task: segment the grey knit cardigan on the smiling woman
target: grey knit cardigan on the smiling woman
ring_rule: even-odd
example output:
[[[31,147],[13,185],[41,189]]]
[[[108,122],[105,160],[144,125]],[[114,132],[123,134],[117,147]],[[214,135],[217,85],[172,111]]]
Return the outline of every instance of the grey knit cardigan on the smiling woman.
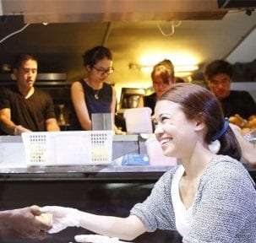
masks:
[[[176,230],[172,207],[172,177],[177,167],[161,176],[143,202],[131,214],[155,229]],[[204,171],[193,203],[193,222],[184,243],[256,242],[256,191],[243,165],[231,157],[218,155]]]

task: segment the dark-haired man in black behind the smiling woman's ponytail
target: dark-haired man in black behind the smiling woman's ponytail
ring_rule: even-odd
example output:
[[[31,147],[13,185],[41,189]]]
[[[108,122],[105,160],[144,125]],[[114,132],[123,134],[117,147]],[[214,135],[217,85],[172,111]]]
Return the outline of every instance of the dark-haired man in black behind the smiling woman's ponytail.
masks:
[[[204,78],[210,90],[221,101],[226,117],[236,114],[248,119],[256,115],[256,104],[247,91],[230,90],[232,66],[229,62],[216,60],[211,62],[204,71]]]

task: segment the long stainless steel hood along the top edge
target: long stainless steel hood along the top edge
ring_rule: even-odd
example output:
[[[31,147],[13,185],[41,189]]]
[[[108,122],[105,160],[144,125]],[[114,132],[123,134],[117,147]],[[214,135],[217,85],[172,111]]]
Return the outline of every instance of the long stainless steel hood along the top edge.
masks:
[[[222,19],[217,0],[2,0],[3,15],[25,23]]]

